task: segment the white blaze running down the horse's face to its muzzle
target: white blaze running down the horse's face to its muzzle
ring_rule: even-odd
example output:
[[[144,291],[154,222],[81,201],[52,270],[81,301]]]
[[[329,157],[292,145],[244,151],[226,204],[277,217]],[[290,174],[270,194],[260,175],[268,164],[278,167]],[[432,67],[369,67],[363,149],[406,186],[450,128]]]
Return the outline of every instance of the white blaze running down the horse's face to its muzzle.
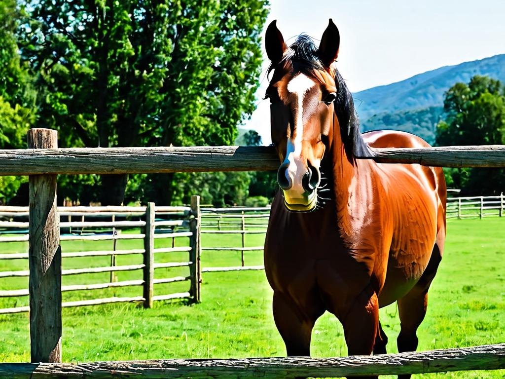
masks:
[[[305,199],[305,189],[301,185],[301,179],[307,172],[307,166],[300,159],[301,141],[304,136],[304,97],[305,94],[315,85],[315,82],[304,74],[296,75],[287,84],[287,90],[296,97],[297,107],[294,115],[294,137],[287,140],[286,158],[284,163],[289,162],[286,170],[286,177],[292,183],[292,187],[284,191],[284,198],[289,204],[309,203],[313,199]]]

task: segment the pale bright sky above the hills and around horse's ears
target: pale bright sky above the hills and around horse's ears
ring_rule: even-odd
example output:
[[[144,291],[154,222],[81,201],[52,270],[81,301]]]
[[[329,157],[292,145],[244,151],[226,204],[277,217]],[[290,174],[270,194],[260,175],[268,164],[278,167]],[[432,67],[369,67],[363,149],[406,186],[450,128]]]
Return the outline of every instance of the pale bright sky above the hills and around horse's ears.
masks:
[[[505,53],[505,0],[270,0],[286,44],[305,33],[318,44],[328,19],[340,31],[337,67],[352,92],[442,66]],[[264,48],[263,48],[264,50]],[[264,53],[258,107],[243,127],[270,144]]]

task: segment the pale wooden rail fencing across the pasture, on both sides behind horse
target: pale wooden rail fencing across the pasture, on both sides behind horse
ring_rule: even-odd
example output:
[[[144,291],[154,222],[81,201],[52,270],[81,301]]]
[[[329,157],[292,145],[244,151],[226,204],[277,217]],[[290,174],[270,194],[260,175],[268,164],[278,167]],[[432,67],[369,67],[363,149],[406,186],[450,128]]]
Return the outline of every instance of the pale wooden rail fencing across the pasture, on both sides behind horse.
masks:
[[[125,206],[108,206],[108,207],[58,207],[58,214],[60,217],[66,216],[69,221],[60,222],[61,228],[68,228],[73,231],[73,234],[62,234],[62,241],[118,241],[118,240],[145,240],[145,233],[118,233],[120,228],[126,227],[140,227],[145,230],[146,227],[146,210],[147,207],[125,207]],[[179,217],[179,219],[155,221],[155,227],[170,227],[177,228],[168,234],[155,233],[153,238],[171,238],[172,247],[154,249],[155,253],[163,252],[181,252],[191,251],[191,247],[175,247],[175,238],[188,237],[193,238],[192,232],[188,230],[190,225],[189,218],[191,217],[190,207],[160,207],[155,206],[155,212],[158,216],[172,216]],[[28,216],[28,207],[11,207],[0,206],[0,217],[13,217],[19,218]],[[502,217],[505,214],[505,196],[501,193],[499,196],[476,196],[476,197],[455,197],[447,199],[447,218],[483,218],[483,217]],[[110,216],[113,221],[89,221],[85,217],[104,217]],[[201,208],[199,213],[199,232],[203,234],[240,234],[241,244],[239,246],[216,246],[216,247],[199,247],[199,250],[204,251],[238,251],[240,252],[241,265],[232,267],[199,267],[199,274],[201,272],[216,272],[216,271],[233,271],[233,270],[259,270],[263,269],[263,265],[246,265],[244,262],[244,252],[246,251],[263,251],[263,246],[246,246],[245,239],[247,234],[264,234],[268,226],[270,216],[270,207],[227,207],[227,208]],[[72,220],[72,217],[74,220]],[[75,221],[75,217],[80,218],[80,221]],[[144,220],[114,220],[115,217],[143,217]],[[19,228],[27,229],[27,221],[0,221],[0,228]],[[85,228],[112,228],[115,232],[110,234],[82,234]],[[76,230],[80,229],[80,233],[76,234]],[[181,230],[183,229],[183,230]],[[87,230],[89,231],[89,230]],[[0,243],[2,242],[25,242],[28,241],[28,234],[14,235],[14,236],[0,236]],[[145,245],[145,243],[144,243]],[[63,270],[62,275],[73,275],[81,273],[92,272],[111,272],[111,283],[97,283],[96,285],[82,285],[82,286],[64,286],[62,291],[76,291],[94,288],[109,288],[109,287],[123,287],[123,286],[148,286],[148,281],[143,279],[136,281],[112,282],[114,272],[145,269],[143,265],[125,265],[116,266],[115,257],[120,255],[130,254],[145,254],[145,249],[130,249],[130,250],[106,250],[106,251],[82,251],[82,252],[63,252],[62,257],[86,257],[86,256],[111,256],[111,266],[109,267],[94,267],[82,269],[69,269]],[[27,259],[28,253],[11,253],[0,254],[0,260],[3,259]],[[153,258],[154,259],[154,258]],[[153,262],[154,263],[154,262]],[[192,261],[188,262],[173,262],[173,263],[154,263],[155,268],[162,267],[177,267],[190,266]],[[0,278],[11,276],[28,276],[28,270],[20,271],[4,271],[0,272]],[[195,280],[200,280],[195,279]],[[166,279],[154,279],[154,283],[190,280],[190,277],[177,277]],[[10,295],[11,294],[11,295]],[[15,291],[0,291],[0,297],[28,295],[27,290]],[[173,294],[176,297],[192,297],[189,293]],[[169,295],[155,296],[154,300],[161,300],[162,298],[169,298]],[[100,304],[103,302],[121,302],[121,301],[146,301],[145,298],[115,298],[115,299],[96,299],[93,304]],[[82,302],[72,302],[71,305],[64,303],[63,306],[87,305],[91,304],[91,300]],[[12,309],[12,312],[17,311],[18,308]],[[22,311],[26,311],[27,307],[19,307]],[[0,310],[0,313],[6,313],[6,310]]]

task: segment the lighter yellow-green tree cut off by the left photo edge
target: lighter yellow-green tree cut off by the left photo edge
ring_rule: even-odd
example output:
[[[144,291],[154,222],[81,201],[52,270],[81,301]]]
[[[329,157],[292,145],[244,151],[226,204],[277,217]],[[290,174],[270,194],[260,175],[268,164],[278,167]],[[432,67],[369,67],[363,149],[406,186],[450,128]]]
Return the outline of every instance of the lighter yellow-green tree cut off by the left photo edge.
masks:
[[[35,93],[16,39],[21,13],[15,0],[0,2],[0,149],[25,148],[26,131],[34,122]],[[0,204],[9,202],[26,181],[0,176]],[[23,205],[28,204],[24,200]]]

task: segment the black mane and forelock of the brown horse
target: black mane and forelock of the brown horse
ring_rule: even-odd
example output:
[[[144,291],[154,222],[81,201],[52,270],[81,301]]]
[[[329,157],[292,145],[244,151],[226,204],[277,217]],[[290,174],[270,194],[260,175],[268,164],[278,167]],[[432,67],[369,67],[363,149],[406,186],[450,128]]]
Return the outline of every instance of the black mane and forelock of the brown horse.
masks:
[[[294,73],[302,72],[307,75],[311,75],[314,70],[325,70],[323,62],[318,56],[317,46],[313,39],[305,34],[299,35],[286,49],[277,67],[292,67]],[[275,67],[271,65],[268,72],[273,69]],[[360,133],[360,122],[352,94],[338,70],[335,70],[335,84],[337,98],[334,101],[334,108],[347,156],[349,159],[351,157],[371,157],[370,148]]]

